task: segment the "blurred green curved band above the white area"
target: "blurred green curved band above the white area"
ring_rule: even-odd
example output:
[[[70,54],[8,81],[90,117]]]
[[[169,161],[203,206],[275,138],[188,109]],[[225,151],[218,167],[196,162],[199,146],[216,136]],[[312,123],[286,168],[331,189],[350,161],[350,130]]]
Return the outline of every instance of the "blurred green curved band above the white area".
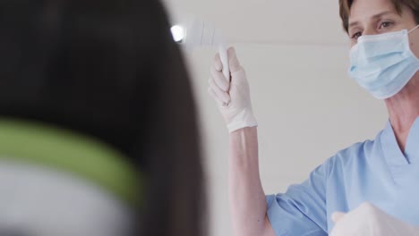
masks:
[[[96,183],[140,206],[141,176],[112,147],[72,131],[37,122],[0,119],[0,160],[40,164]]]

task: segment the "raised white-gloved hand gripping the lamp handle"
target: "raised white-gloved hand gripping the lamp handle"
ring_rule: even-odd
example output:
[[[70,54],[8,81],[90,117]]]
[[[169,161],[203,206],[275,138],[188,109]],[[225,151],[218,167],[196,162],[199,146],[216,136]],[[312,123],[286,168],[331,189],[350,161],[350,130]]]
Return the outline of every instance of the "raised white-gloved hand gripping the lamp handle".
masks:
[[[235,55],[235,48],[228,48],[227,56],[230,82],[224,77],[223,64],[219,55],[216,55],[210,69],[208,92],[217,101],[218,109],[227,122],[228,131],[233,132],[244,127],[257,126],[257,122],[253,116],[249,83]]]

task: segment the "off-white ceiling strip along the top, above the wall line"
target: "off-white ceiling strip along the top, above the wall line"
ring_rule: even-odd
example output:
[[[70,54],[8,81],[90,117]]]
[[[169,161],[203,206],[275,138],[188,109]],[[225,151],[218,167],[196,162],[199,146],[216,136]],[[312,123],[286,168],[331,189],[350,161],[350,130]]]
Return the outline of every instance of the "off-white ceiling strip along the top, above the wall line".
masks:
[[[347,45],[338,0],[164,0],[173,23],[212,21],[229,43]]]

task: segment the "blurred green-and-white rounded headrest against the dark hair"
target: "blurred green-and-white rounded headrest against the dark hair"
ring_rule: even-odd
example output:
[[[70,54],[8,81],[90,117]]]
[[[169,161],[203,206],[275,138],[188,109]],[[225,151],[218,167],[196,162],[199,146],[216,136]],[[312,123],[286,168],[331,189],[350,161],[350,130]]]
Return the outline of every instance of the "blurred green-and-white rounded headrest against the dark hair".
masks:
[[[80,133],[0,119],[0,235],[131,235],[139,173],[125,159]]]

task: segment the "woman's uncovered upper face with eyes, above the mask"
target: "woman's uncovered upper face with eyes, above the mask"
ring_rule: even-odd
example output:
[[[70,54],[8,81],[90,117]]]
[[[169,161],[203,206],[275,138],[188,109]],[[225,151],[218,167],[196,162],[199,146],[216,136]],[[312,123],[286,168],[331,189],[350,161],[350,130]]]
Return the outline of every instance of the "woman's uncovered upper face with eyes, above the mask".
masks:
[[[410,8],[402,4],[399,14],[390,0],[354,0],[349,15],[348,35],[351,46],[363,35],[375,35],[399,30],[411,30],[416,26]],[[419,29],[409,34],[410,48],[419,57]]]

